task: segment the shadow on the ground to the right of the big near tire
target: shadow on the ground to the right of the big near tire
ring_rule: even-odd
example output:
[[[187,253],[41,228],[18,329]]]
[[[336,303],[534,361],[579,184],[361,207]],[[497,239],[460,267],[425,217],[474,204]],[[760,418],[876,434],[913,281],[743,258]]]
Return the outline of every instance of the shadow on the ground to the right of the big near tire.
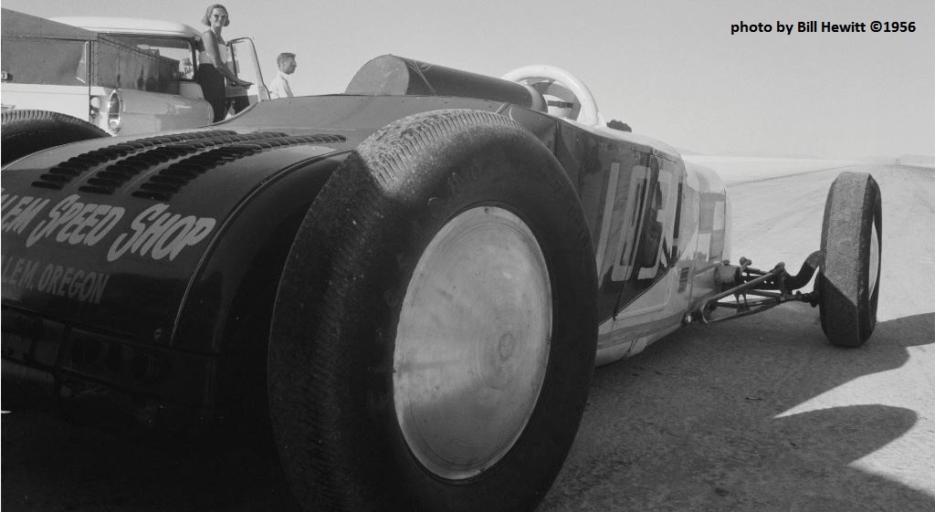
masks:
[[[832,347],[817,317],[789,305],[688,327],[598,368],[575,446],[539,511],[935,510],[935,489],[854,463],[930,418],[932,405],[856,397],[870,405],[803,406],[902,367],[909,348],[935,343],[935,313],[878,323],[854,349]],[[783,414],[794,407],[817,410]],[[914,467],[933,457],[922,446],[928,453],[902,453]],[[904,462],[913,467],[894,463]]]

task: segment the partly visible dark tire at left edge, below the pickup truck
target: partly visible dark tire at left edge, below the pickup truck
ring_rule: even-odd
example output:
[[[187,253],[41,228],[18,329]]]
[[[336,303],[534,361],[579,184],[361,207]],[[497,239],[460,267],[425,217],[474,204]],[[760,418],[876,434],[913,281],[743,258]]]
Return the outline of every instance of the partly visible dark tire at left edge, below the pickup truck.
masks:
[[[71,142],[108,136],[88,121],[48,110],[7,110],[3,113],[3,165]]]

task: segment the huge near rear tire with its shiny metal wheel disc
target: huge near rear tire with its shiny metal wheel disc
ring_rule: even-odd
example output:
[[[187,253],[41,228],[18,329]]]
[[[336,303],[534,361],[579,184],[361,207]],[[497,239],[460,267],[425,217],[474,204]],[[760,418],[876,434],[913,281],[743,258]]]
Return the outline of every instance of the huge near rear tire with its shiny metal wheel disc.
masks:
[[[311,206],[272,321],[299,502],[533,508],[582,417],[596,291],[581,203],[520,125],[449,110],[372,135]]]

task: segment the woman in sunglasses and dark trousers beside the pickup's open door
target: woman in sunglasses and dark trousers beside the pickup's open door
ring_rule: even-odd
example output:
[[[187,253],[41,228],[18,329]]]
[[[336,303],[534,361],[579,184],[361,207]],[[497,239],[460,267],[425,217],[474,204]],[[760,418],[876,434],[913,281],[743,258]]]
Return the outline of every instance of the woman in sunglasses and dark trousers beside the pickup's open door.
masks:
[[[241,80],[234,74],[234,64],[230,49],[221,36],[223,28],[230,24],[227,8],[221,4],[212,4],[205,11],[201,22],[209,26],[201,35],[205,50],[199,55],[200,64],[194,73],[194,79],[201,84],[205,99],[214,109],[214,122],[222,121],[227,115],[227,101],[224,97],[224,80],[233,85],[250,87],[252,82]]]

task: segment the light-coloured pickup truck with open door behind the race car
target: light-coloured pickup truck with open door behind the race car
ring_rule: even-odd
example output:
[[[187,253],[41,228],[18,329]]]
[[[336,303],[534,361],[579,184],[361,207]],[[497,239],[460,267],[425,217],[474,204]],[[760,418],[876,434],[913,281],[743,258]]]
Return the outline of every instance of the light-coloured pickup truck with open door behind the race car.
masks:
[[[4,164],[28,154],[19,154],[24,150],[212,120],[194,81],[202,42],[191,26],[131,18],[47,20],[6,8],[2,21]],[[252,91],[228,88],[228,98],[242,104],[268,99],[252,40],[229,45],[237,72],[254,85]],[[23,145],[22,138],[35,144]]]

